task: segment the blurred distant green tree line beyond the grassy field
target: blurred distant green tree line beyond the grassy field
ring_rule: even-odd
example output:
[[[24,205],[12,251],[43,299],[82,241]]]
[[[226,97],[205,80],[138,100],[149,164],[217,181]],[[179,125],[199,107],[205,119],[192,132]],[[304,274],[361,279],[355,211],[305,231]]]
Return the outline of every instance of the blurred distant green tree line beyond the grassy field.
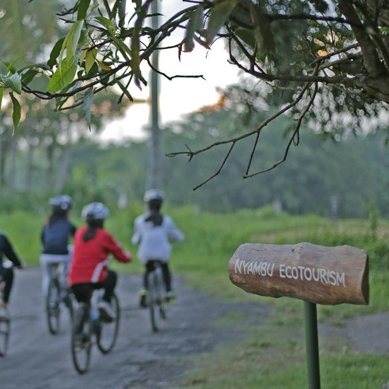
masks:
[[[217,114],[215,111],[218,111]],[[222,119],[221,119],[222,118]],[[185,120],[170,123],[163,130],[164,154],[196,148],[225,137],[241,121],[241,114],[222,106],[205,108],[188,115]],[[256,150],[258,168],[269,166],[284,152],[279,142],[287,133],[288,119],[274,121],[266,128]],[[233,130],[236,133],[236,130]],[[362,139],[363,138],[363,139]],[[278,140],[277,140],[278,139]],[[287,137],[284,138],[285,142]],[[241,179],[244,170],[242,153],[250,148],[246,139],[231,153],[222,172],[200,188],[200,182],[217,171],[225,153],[213,148],[188,163],[185,156],[162,158],[163,189],[170,206],[193,204],[202,210],[215,212],[241,208],[259,208],[273,204],[276,211],[291,214],[315,213],[339,218],[366,218],[369,204],[379,210],[379,216],[389,218],[389,157],[381,133],[322,140],[312,130],[301,130],[299,145],[292,146],[286,163],[260,176]],[[102,146],[91,137],[81,137],[72,143],[63,172],[63,152],[52,156],[54,181],[61,174],[60,191],[71,195],[78,206],[88,201],[105,201],[112,207],[131,201],[142,201],[146,187],[148,141],[125,140],[120,146]],[[15,166],[8,166],[7,174],[14,182],[14,190],[3,194],[0,208],[39,209],[46,206],[47,197],[55,191],[46,184],[47,149],[36,148],[35,163],[29,161],[29,151],[23,143],[15,150]],[[28,185],[25,180],[29,167]]]

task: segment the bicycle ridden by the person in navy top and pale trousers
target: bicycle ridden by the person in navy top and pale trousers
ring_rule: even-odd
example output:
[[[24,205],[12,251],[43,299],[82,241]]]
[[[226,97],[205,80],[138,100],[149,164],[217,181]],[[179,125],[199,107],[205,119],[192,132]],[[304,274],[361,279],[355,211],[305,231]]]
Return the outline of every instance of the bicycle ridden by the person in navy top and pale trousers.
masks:
[[[47,295],[46,295],[46,318],[49,331],[52,334],[59,332],[61,304],[64,303],[69,311],[70,319],[73,319],[73,297],[69,292],[67,285],[64,285],[61,280],[65,264],[63,262],[53,263],[51,265],[51,276],[49,280]]]

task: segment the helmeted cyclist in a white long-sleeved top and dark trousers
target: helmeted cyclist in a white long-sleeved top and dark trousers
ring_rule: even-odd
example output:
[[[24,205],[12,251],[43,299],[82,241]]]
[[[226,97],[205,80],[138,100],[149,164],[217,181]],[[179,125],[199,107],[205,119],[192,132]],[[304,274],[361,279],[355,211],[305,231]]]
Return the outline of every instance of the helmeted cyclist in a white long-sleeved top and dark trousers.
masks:
[[[171,288],[171,274],[168,267],[171,241],[184,240],[184,234],[176,227],[170,216],[161,214],[165,194],[159,189],[150,189],[144,195],[148,211],[138,216],[134,221],[133,244],[139,244],[138,258],[145,265],[143,274],[143,289],[140,290],[141,307],[146,307],[147,278],[154,268],[154,261],[160,261],[166,287],[167,301],[175,298]]]

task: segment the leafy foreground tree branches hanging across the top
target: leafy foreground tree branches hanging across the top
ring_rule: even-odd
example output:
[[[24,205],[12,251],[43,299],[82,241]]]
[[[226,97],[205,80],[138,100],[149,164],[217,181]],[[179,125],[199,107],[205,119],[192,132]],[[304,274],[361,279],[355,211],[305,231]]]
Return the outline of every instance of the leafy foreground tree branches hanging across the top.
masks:
[[[183,0],[180,9],[160,18],[154,28],[149,22],[153,1],[157,0],[69,1],[71,5],[58,13],[68,32],[56,41],[47,61],[21,67],[18,58],[4,63],[0,98],[4,90],[9,92],[14,128],[20,120],[15,95],[55,99],[57,110],[82,106],[90,123],[95,94],[116,85],[121,90],[118,102],[132,101],[129,85],[147,85],[143,63],[169,79],[201,76],[171,75],[154,68],[155,50],[190,55],[186,53],[195,45],[212,49],[217,39],[225,41],[229,62],[249,77],[237,99],[250,109],[277,103],[279,110],[245,133],[171,155],[192,159],[229,144],[222,168],[234,146],[253,136],[243,174],[251,177],[286,159],[290,145],[299,141],[304,119],[332,134],[339,128],[358,131],[366,117],[383,122],[380,114],[389,107],[387,0]],[[165,45],[174,31],[183,34]],[[44,87],[36,82],[37,76],[45,77]],[[252,171],[261,131],[284,113],[290,114],[293,126],[283,158]],[[384,126],[388,128],[386,122]]]

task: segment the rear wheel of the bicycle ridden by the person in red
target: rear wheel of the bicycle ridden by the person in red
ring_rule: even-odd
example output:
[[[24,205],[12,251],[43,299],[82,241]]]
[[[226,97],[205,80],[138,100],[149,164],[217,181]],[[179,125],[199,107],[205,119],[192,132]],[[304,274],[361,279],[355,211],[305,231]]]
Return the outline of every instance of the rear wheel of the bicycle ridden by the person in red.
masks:
[[[81,334],[76,334],[74,323],[71,332],[71,356],[74,367],[80,374],[85,373],[89,368],[92,348],[92,328],[89,313],[88,319],[83,321]]]

